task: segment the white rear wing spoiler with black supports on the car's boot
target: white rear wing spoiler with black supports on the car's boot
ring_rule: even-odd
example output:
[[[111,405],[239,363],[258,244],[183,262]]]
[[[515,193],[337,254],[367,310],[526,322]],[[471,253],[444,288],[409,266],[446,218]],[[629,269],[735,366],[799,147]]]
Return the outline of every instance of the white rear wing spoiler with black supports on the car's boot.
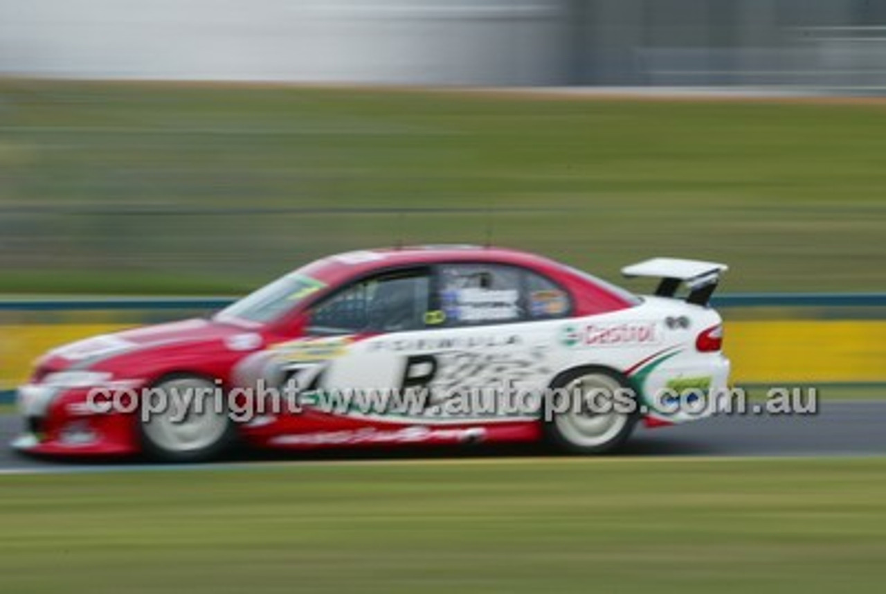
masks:
[[[659,297],[673,297],[680,288],[680,283],[685,283],[689,288],[686,301],[696,305],[707,305],[719,284],[720,275],[727,270],[729,267],[726,264],[717,262],[653,258],[626,266],[621,269],[621,273],[628,278],[661,278],[656,289]]]

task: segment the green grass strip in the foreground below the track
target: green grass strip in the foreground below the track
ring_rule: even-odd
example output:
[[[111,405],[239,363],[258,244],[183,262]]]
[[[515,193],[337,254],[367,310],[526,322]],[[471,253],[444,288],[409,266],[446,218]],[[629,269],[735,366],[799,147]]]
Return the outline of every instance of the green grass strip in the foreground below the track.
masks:
[[[886,459],[0,478],[3,590],[880,592]]]

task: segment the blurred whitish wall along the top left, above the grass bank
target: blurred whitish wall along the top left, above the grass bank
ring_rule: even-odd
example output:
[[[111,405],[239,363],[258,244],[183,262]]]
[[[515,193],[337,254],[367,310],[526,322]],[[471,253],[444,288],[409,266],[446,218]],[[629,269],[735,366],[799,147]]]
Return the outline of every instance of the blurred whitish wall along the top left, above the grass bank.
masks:
[[[563,83],[563,0],[0,0],[0,74]]]

